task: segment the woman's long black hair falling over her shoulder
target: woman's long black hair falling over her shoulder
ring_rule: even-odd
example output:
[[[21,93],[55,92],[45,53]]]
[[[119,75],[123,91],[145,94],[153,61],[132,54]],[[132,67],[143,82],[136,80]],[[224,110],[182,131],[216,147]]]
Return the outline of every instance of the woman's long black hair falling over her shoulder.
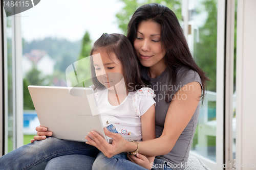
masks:
[[[141,21],[151,20],[159,23],[161,26],[161,42],[163,51],[166,51],[164,61],[167,65],[166,69],[171,72],[169,84],[175,86],[177,83],[177,72],[181,67],[187,67],[198,72],[203,86],[202,99],[205,95],[206,81],[209,80],[204,71],[198,67],[194,61],[179,21],[172,10],[160,4],[146,4],[139,7],[133,14],[127,28],[127,37],[134,44],[137,38],[137,29]],[[141,66],[143,67],[143,66]],[[186,71],[188,70],[186,69]],[[185,75],[182,72],[181,75]],[[179,78],[180,79],[180,78]],[[168,96],[172,96],[172,91],[167,91]],[[166,94],[166,96],[167,96]],[[169,103],[171,99],[165,98],[165,102]]]

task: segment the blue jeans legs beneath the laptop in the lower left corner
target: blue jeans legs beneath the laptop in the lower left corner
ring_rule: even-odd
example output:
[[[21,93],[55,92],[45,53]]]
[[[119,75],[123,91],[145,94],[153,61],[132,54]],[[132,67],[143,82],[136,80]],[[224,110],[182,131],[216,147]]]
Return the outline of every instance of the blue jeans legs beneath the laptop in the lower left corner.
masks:
[[[47,137],[0,157],[0,169],[91,169],[98,153],[84,142]]]

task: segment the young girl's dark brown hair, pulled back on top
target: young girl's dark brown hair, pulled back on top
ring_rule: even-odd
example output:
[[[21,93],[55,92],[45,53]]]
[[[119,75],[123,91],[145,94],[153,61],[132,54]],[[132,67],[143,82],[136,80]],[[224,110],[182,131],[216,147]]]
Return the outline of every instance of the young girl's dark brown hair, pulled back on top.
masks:
[[[140,66],[137,54],[129,39],[122,34],[102,34],[92,47],[90,55],[94,52],[105,52],[111,59],[111,54],[115,54],[123,67],[123,78],[127,90],[136,91],[138,88],[145,87],[141,80]],[[103,89],[103,86],[96,78],[93,60],[91,61],[91,74],[94,89]]]

